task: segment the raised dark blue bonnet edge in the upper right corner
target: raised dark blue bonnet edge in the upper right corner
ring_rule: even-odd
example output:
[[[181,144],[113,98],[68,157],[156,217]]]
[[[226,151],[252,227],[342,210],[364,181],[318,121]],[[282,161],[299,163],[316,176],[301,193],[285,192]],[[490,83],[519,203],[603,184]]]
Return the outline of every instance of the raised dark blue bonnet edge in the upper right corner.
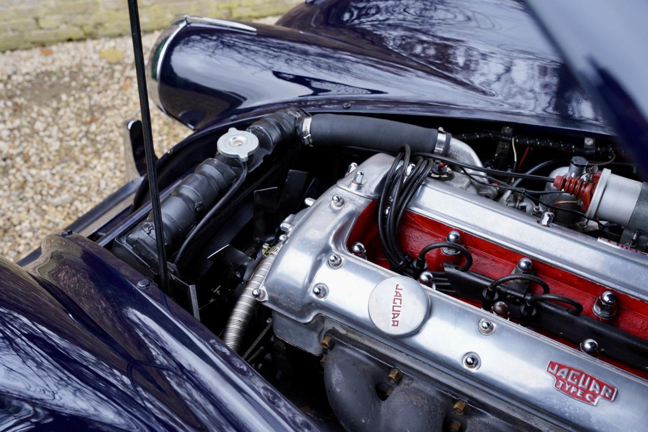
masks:
[[[648,174],[648,2],[527,0],[566,63]]]

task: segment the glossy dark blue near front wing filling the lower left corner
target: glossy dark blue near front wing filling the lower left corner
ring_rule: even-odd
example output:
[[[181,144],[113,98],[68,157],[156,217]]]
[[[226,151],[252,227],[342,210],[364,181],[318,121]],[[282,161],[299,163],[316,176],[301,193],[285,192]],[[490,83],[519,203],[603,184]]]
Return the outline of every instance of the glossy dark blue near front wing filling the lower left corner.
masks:
[[[0,261],[0,428],[313,429],[211,332],[110,252],[51,235]]]

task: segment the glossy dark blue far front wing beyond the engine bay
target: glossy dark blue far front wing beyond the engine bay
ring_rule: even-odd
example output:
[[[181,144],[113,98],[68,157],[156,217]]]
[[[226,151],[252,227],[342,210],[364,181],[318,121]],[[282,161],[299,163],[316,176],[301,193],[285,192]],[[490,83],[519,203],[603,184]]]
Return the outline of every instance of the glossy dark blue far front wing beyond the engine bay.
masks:
[[[158,77],[168,114],[203,128],[286,104],[350,102],[355,112],[608,132],[520,1],[330,0],[279,24],[180,29]]]

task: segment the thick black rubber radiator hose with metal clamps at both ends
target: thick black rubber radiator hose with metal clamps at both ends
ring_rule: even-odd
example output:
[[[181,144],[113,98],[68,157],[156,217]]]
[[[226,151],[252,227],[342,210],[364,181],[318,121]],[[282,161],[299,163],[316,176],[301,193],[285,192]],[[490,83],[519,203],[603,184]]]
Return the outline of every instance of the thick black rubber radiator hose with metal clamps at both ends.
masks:
[[[308,119],[305,120],[308,122]],[[302,126],[302,134],[308,123]],[[447,154],[450,134],[399,121],[360,115],[315,114],[310,119],[310,140],[317,147],[345,145],[378,152],[396,153],[407,144],[412,153]],[[443,142],[438,143],[439,138]]]

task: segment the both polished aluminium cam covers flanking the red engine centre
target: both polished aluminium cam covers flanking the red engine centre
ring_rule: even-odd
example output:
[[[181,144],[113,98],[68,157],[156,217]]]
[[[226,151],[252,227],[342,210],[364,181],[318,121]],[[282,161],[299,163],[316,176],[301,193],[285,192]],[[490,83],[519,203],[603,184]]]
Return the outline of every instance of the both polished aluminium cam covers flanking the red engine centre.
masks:
[[[412,309],[416,317],[426,316],[420,328],[416,318],[406,332],[385,330],[385,316],[376,318],[375,312],[388,302],[372,301],[372,293],[384,290],[393,301],[388,291],[394,291],[396,283],[409,287],[415,282],[351,254],[346,245],[358,216],[378,197],[392,160],[385,154],[369,158],[358,167],[364,172],[362,187],[352,184],[351,173],[295,217],[264,281],[267,295],[262,302],[274,311],[277,337],[320,355],[319,341],[326,331],[349,328],[561,427],[578,427],[576,419],[585,417],[588,427],[600,431],[618,429],[619,422],[648,422],[645,381],[430,287],[420,285],[428,301],[422,304],[428,306]],[[648,278],[648,269],[642,257],[607,248],[567,228],[544,227],[526,213],[435,180],[421,187],[410,210],[645,298],[640,281]],[[529,235],[533,242],[524,241]],[[328,262],[332,255],[340,258],[338,265]],[[636,278],[620,286],[614,275],[628,273]],[[316,285],[326,287],[325,296],[314,295]],[[483,320],[492,323],[491,331],[480,330]]]

